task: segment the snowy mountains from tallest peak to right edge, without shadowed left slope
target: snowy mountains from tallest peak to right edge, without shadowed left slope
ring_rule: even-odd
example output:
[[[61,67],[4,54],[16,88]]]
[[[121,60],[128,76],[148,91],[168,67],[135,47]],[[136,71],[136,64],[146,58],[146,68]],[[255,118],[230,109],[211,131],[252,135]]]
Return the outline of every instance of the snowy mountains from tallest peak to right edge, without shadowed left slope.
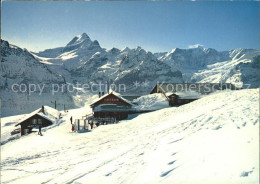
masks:
[[[136,90],[132,86],[134,81],[148,81],[149,87],[156,81],[231,82],[237,87],[259,86],[260,51],[253,49],[217,51],[198,46],[175,48],[164,53],[151,53],[141,47],[106,50],[83,33],[65,47],[35,54],[56,64],[53,68],[58,65],[55,71],[67,75],[66,79],[72,79],[72,82],[83,82],[86,78],[92,82],[112,79],[115,83],[126,83],[130,92]]]

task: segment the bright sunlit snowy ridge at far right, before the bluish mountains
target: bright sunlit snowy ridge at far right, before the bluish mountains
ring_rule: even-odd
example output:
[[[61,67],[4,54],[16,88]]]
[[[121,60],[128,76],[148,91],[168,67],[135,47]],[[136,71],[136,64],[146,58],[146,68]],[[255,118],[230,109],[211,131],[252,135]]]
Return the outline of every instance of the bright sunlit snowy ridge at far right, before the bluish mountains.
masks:
[[[234,54],[235,53],[235,54]],[[237,49],[230,60],[207,65],[191,77],[196,82],[228,82],[237,87],[257,88],[260,85],[260,51]]]

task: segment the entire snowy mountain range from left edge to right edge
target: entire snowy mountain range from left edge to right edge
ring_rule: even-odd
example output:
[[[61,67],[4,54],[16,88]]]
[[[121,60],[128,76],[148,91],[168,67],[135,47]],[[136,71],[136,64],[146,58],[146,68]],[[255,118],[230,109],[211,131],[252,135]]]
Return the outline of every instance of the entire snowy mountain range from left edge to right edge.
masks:
[[[114,83],[127,87],[125,94],[150,92],[157,82],[228,82],[238,87],[259,87],[260,51],[235,49],[216,51],[210,48],[173,49],[151,53],[137,47],[101,48],[83,33],[66,46],[38,53],[21,49],[1,40],[2,115],[30,112],[42,104],[58,101],[59,108],[84,106],[95,93],[67,90],[51,94],[51,84]],[[43,95],[14,93],[15,83],[47,84]],[[104,88],[105,90],[105,88]],[[122,91],[121,91],[122,92]]]

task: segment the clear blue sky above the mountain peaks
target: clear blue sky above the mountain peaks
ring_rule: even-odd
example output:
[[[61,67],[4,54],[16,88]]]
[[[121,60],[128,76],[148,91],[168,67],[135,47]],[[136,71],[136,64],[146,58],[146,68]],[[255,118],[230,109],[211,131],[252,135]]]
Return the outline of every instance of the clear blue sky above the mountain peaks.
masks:
[[[87,33],[104,48],[259,49],[259,2],[2,2],[2,39],[32,51]]]

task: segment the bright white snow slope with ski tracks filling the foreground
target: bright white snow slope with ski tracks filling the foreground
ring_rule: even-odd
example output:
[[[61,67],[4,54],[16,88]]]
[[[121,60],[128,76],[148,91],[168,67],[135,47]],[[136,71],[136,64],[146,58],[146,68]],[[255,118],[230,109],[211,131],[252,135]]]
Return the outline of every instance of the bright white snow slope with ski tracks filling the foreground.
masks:
[[[1,183],[256,184],[258,103],[258,89],[220,92],[83,133],[69,118],[90,109],[70,110],[2,146]]]

